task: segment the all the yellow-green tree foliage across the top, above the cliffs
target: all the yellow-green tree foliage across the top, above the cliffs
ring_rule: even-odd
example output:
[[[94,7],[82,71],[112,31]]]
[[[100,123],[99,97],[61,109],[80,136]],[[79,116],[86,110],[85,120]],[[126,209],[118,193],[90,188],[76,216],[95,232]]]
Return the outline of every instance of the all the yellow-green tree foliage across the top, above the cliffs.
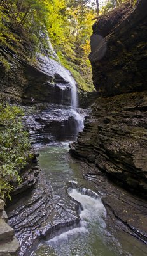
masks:
[[[124,1],[99,1],[101,13],[109,12]],[[33,45],[29,58],[35,59],[37,51],[46,52],[49,36],[61,62],[72,72],[78,86],[93,90],[88,54],[95,15],[95,0],[1,0],[0,44],[18,52],[26,41]],[[22,54],[25,56],[23,50]],[[8,70],[6,60],[0,61]]]

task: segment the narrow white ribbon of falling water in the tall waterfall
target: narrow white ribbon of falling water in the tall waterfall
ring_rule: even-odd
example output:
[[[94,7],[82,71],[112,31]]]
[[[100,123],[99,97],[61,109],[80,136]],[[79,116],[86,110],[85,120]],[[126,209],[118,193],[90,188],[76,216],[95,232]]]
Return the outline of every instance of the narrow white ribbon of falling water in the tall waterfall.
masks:
[[[38,56],[38,60],[40,63],[39,70],[41,70],[41,72],[47,74],[48,76],[53,77],[52,80],[54,80],[55,78],[55,81],[53,81],[53,85],[59,87],[60,90],[62,90],[61,102],[63,105],[66,106],[66,109],[67,109],[67,105],[69,104],[68,99],[69,98],[71,99],[71,104],[69,109],[67,109],[67,112],[71,118],[71,120],[69,120],[72,125],[71,131],[74,131],[74,134],[76,135],[78,134],[78,132],[81,132],[84,127],[84,124],[83,124],[84,118],[77,111],[78,99],[77,99],[76,81],[72,77],[71,72],[69,72],[69,70],[67,70],[65,67],[60,65],[60,60],[52,47],[50,38],[48,37],[47,40],[48,40],[48,49],[50,49],[52,56],[56,60],[53,60],[48,56],[43,56],[42,54],[36,54],[36,56]],[[57,81],[56,76],[60,77],[59,81]],[[70,97],[67,96],[67,90],[69,89],[70,89]],[[64,91],[65,91],[65,95],[64,95]],[[65,100],[65,104],[64,104],[64,100]],[[69,124],[69,127],[70,127],[70,124]]]

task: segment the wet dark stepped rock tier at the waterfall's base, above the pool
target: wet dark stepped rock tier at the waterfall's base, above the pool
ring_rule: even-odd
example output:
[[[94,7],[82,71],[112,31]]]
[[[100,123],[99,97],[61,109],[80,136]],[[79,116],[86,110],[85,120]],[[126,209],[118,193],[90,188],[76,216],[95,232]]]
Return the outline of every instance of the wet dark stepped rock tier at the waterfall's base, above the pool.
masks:
[[[89,110],[78,109],[84,119]],[[31,142],[47,144],[53,141],[76,138],[78,123],[76,113],[69,106],[56,104],[36,104],[25,107],[24,125],[29,131]]]

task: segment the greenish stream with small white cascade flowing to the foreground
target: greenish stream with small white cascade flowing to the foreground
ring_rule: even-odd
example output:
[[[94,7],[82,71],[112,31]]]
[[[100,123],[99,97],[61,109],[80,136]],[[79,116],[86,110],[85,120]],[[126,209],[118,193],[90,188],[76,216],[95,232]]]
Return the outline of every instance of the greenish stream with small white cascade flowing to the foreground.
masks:
[[[48,241],[41,241],[31,256],[139,256],[141,248],[107,227],[106,209],[94,185],[83,179],[80,163],[68,159],[68,142],[55,143],[39,149],[39,167],[50,180],[53,193],[66,201],[67,193],[80,202],[80,226],[59,234]],[[73,184],[73,185],[72,185]],[[81,188],[81,189],[78,189]],[[66,205],[66,202],[64,202]],[[114,235],[115,234],[115,235]],[[125,242],[124,242],[125,241]],[[122,243],[121,243],[122,242]],[[123,245],[122,245],[123,244]]]

